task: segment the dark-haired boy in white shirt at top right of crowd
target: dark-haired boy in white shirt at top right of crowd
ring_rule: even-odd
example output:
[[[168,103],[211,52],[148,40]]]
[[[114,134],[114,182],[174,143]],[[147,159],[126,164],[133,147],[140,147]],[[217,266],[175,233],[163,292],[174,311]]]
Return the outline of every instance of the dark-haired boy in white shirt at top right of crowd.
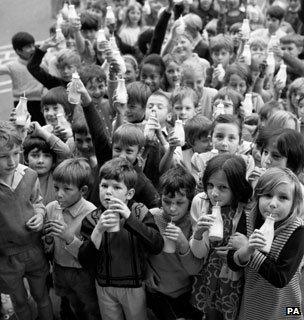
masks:
[[[281,23],[284,19],[285,10],[280,6],[271,6],[266,12],[266,26],[267,28],[257,29],[251,32],[250,38],[264,39],[267,43],[270,41],[271,36],[275,36],[279,41],[280,38],[286,35],[281,30]]]

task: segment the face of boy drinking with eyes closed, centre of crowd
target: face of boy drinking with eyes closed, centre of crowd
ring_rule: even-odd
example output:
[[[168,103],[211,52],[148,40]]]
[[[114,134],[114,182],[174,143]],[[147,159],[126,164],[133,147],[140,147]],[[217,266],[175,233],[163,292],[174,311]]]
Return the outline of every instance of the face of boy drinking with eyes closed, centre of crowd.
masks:
[[[161,128],[165,127],[169,112],[168,99],[161,95],[150,96],[147,101],[146,119],[149,119],[152,110],[156,112],[157,120]]]

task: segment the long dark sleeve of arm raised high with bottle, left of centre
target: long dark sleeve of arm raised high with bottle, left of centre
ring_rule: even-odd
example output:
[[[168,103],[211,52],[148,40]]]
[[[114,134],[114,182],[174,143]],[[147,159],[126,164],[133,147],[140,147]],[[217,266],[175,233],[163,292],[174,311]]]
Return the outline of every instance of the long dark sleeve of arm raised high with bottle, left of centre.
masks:
[[[97,162],[101,167],[106,161],[112,159],[112,148],[104,132],[100,115],[94,105],[91,103],[83,107],[83,112],[92,136]]]

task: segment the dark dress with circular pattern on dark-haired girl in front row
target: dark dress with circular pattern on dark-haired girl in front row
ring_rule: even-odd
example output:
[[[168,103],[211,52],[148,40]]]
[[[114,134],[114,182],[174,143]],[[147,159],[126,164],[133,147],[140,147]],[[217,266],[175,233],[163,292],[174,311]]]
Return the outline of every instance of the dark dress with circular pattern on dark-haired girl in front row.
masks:
[[[203,313],[215,309],[223,314],[225,320],[237,319],[244,278],[243,274],[232,272],[228,268],[227,262],[216,254],[214,248],[228,244],[230,235],[235,231],[233,230],[235,228],[233,220],[236,212],[228,206],[221,208],[224,238],[222,241],[210,244],[207,262],[200,274],[194,277],[192,291],[192,303],[197,309]]]

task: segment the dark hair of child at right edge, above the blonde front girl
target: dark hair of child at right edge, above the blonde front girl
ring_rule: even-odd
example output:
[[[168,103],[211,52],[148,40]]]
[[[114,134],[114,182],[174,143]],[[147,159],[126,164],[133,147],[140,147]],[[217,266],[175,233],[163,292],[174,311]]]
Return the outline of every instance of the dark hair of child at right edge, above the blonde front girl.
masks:
[[[262,128],[258,134],[256,144],[263,150],[273,143],[281,156],[287,158],[286,167],[295,174],[304,169],[304,137],[293,129]]]

